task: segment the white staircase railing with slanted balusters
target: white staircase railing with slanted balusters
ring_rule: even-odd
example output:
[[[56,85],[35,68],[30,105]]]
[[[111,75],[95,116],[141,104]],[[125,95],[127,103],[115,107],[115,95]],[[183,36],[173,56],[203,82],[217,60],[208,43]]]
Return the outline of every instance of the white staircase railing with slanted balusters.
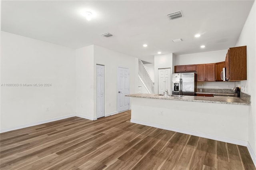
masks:
[[[154,93],[154,82],[150,78],[150,75],[146,71],[144,64],[139,59],[139,78],[143,85],[145,86],[148,93]]]

